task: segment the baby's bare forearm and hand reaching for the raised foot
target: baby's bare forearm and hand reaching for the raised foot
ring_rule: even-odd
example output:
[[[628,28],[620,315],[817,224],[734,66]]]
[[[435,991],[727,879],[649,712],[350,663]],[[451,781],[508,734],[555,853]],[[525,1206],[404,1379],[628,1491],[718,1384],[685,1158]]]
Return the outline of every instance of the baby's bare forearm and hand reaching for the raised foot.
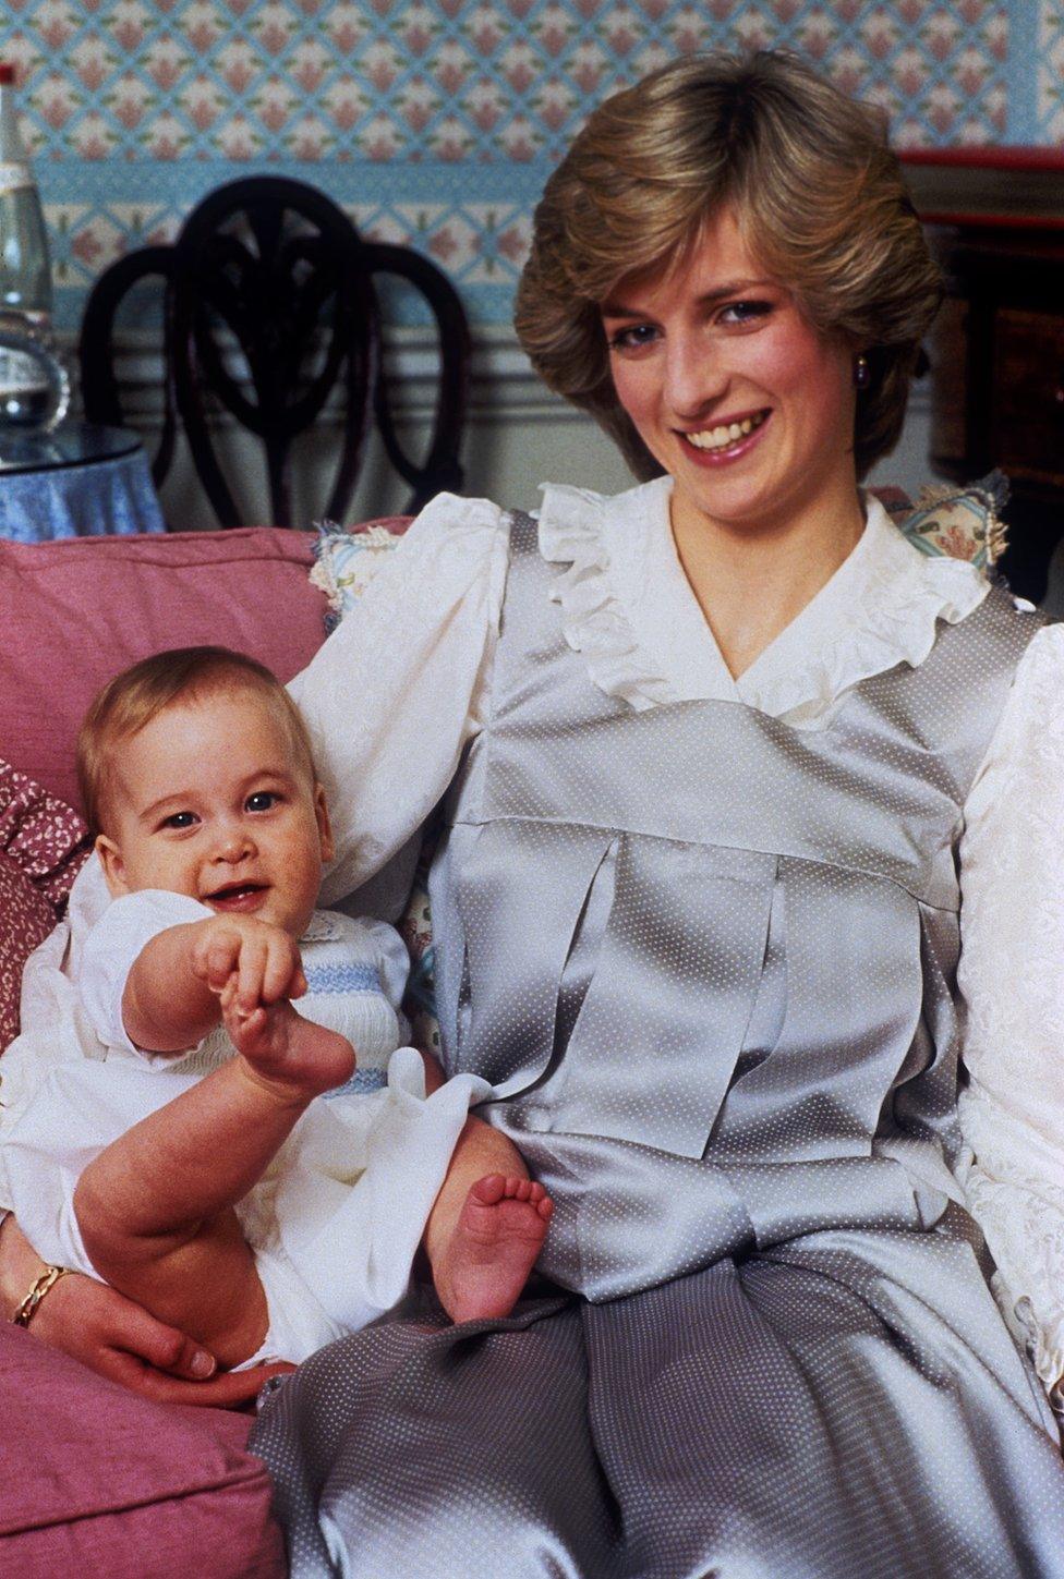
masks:
[[[306,992],[298,947],[279,927],[210,916],[167,927],[144,946],[122,995],[126,1036],[152,1053],[194,1047],[221,1020],[219,995],[234,971],[246,1011]]]

